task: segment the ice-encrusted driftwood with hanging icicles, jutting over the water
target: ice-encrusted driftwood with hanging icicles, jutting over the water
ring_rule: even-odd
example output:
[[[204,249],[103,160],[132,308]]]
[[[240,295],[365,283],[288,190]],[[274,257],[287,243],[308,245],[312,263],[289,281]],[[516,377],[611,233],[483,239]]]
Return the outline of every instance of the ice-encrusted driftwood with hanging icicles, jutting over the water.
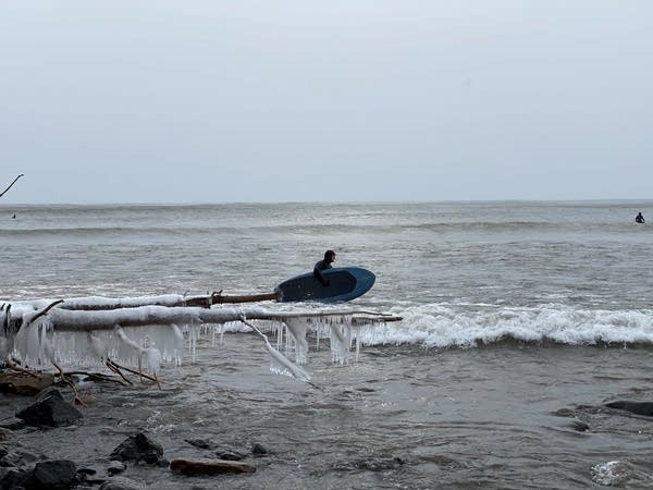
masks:
[[[186,345],[195,359],[197,339],[202,333],[214,339],[225,330],[252,330],[271,355],[271,370],[308,380],[308,373],[297,366],[307,360],[307,331],[328,336],[333,359],[345,363],[354,344],[358,352],[357,333],[361,329],[401,319],[353,309],[272,311],[259,306],[176,306],[180,301],[188,298],[165,295],[5,303],[0,308],[0,356],[32,367],[118,359],[137,365],[139,370],[156,371],[163,362],[181,364]],[[263,333],[269,330],[278,333],[278,348],[285,338],[286,352],[295,354],[297,365],[270,344]]]

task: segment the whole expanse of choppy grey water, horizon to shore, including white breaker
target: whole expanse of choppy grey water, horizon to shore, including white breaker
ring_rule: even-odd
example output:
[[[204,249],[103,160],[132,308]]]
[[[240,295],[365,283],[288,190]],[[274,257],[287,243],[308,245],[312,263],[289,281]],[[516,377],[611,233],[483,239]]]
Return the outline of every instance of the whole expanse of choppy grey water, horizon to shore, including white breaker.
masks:
[[[271,451],[245,477],[133,469],[160,488],[646,488],[653,420],[596,407],[653,397],[653,228],[633,221],[651,208],[4,206],[0,297],[269,292],[334,248],[378,275],[352,306],[405,318],[358,363],[332,365],[311,340],[313,388],[271,375],[251,335],[207,339],[196,364],[162,372],[162,392],[88,387],[102,450],[147,427],[168,457],[210,455],[185,438]],[[93,441],[62,437],[61,455],[88,457]]]

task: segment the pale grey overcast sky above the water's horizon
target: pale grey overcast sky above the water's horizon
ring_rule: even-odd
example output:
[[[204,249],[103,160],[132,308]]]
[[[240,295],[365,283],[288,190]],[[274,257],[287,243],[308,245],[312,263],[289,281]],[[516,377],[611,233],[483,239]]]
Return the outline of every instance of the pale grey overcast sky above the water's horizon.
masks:
[[[651,198],[650,0],[3,1],[0,199]]]

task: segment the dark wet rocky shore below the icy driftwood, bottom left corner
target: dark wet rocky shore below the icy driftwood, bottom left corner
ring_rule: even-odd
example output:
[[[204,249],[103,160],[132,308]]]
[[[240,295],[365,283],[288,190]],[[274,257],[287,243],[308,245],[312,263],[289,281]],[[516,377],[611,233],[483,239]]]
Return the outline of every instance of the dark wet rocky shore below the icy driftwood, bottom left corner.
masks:
[[[111,390],[108,396],[111,397]],[[94,420],[93,416],[87,419],[66,397],[71,399],[72,392],[65,387],[47,388],[33,399],[3,395],[5,403],[0,412],[0,490],[143,489],[148,485],[138,478],[141,473],[159,470],[186,477],[250,474],[256,471],[256,466],[246,460],[268,454],[259,443],[251,444],[247,450],[235,451],[220,450],[206,439],[185,439],[184,444],[196,454],[190,457],[180,454],[169,460],[156,436],[135,429],[104,455],[95,448],[97,457],[82,457],[83,461],[60,457],[58,445],[88,448],[89,433],[97,434],[97,442],[103,445],[108,442],[100,439],[104,426],[98,425],[98,419]],[[50,445],[48,440],[54,434],[59,443]],[[32,443],[23,441],[27,436],[30,436]],[[79,443],[79,438],[85,441]],[[35,451],[39,441],[39,451]]]

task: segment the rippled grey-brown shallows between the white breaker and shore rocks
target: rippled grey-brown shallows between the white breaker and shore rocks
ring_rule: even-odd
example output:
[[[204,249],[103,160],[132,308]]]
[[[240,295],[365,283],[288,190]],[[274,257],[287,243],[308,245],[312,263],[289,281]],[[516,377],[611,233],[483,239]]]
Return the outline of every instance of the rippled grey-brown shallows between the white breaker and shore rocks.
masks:
[[[343,367],[324,348],[313,352],[315,388],[271,376],[251,335],[205,347],[195,365],[162,371],[161,391],[83,384],[96,402],[79,427],[23,433],[21,444],[93,464],[146,429],[168,458],[235,451],[257,466],[210,478],[125,473],[165,489],[587,488],[596,485],[593,468],[611,461],[627,463],[629,488],[653,485],[653,420],[595,407],[651,393],[646,348],[384,346]],[[2,415],[25,403],[4,400]],[[574,419],[590,429],[575,430]],[[195,439],[211,448],[186,442]],[[269,454],[252,456],[254,443]]]

